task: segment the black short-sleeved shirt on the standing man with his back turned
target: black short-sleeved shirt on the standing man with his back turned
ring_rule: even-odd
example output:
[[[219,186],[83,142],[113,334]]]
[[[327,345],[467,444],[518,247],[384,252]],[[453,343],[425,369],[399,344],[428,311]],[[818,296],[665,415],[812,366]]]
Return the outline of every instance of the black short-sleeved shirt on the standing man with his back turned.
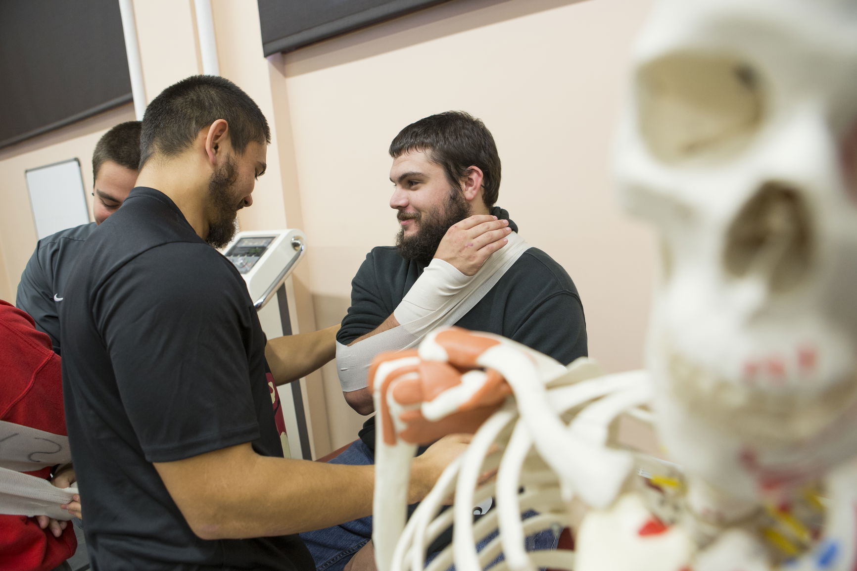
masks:
[[[265,336],[231,262],[139,187],[93,231],[59,305],[93,569],[312,569],[295,535],[196,537],[152,465],[243,442],[283,454]]]

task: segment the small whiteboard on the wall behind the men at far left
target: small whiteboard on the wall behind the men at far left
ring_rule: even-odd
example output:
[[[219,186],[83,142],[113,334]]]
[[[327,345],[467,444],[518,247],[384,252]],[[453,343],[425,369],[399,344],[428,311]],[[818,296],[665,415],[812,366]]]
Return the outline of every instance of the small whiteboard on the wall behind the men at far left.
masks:
[[[63,160],[26,171],[30,207],[39,240],[89,222],[81,161]]]

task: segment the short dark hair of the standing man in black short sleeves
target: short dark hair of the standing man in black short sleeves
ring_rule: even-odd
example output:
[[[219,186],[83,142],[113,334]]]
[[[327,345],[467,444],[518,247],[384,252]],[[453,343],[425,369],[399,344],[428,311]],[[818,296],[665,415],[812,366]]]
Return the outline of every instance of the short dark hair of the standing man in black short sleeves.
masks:
[[[241,87],[219,75],[191,75],[167,87],[146,108],[140,135],[140,166],[154,153],[175,156],[218,119],[229,123],[237,153],[250,142],[271,142],[271,129],[259,105]]]

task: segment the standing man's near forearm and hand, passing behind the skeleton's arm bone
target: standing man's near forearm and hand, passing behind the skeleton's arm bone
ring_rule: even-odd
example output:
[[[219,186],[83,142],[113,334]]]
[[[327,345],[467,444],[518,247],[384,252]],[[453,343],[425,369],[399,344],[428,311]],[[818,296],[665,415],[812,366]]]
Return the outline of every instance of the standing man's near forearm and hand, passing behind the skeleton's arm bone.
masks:
[[[409,502],[423,499],[464,445],[453,437],[415,459]],[[372,513],[374,466],[260,456],[249,443],[154,466],[203,539],[308,532]]]

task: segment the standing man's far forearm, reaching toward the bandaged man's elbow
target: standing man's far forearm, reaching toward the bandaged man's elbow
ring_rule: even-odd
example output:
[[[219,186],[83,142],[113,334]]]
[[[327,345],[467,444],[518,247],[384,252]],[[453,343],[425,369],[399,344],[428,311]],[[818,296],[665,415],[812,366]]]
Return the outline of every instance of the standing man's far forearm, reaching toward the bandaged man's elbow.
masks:
[[[339,325],[307,334],[285,335],[268,340],[265,358],[274,382],[283,385],[326,364],[336,355]]]

